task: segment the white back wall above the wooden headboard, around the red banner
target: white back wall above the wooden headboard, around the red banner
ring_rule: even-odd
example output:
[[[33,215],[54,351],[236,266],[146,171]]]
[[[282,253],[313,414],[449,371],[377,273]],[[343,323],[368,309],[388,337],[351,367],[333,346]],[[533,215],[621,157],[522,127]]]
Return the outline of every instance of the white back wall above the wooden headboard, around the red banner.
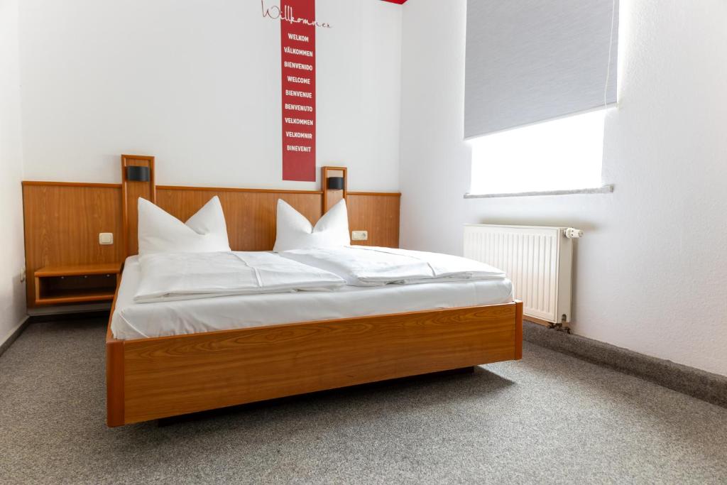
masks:
[[[277,0],[265,0],[268,6]],[[318,0],[318,165],[397,190],[401,7]],[[280,26],[260,0],[23,0],[25,178],[119,182],[119,154],[160,184],[281,180]]]

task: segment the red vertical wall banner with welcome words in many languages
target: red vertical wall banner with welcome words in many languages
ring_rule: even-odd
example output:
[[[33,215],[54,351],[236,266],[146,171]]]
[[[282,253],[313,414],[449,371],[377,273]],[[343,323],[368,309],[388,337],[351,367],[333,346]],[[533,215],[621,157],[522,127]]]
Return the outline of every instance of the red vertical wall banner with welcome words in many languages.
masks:
[[[281,0],[283,180],[316,181],[316,0]]]

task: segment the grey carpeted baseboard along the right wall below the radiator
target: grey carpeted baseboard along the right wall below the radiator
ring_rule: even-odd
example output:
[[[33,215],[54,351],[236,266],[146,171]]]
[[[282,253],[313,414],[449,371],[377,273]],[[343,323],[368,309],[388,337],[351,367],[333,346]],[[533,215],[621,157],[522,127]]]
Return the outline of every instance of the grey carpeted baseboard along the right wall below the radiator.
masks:
[[[523,321],[523,339],[727,407],[727,376]]]

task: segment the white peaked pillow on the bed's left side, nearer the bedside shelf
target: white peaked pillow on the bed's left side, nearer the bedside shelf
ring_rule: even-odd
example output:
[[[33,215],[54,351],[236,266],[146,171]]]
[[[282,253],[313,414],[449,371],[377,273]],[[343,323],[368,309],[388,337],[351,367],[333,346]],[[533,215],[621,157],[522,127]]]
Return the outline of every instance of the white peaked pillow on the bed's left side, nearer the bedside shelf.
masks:
[[[230,251],[225,214],[217,196],[182,223],[164,209],[139,198],[139,254]]]

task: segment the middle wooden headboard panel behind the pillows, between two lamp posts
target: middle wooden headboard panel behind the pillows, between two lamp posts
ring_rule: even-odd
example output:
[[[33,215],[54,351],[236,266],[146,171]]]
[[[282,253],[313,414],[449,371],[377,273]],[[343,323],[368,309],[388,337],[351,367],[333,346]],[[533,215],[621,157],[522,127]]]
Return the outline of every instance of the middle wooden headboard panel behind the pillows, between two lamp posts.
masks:
[[[318,191],[265,191],[254,189],[162,187],[156,203],[180,220],[188,220],[209,199],[220,197],[233,251],[270,251],[275,244],[276,207],[283,199],[311,223],[321,217]]]

